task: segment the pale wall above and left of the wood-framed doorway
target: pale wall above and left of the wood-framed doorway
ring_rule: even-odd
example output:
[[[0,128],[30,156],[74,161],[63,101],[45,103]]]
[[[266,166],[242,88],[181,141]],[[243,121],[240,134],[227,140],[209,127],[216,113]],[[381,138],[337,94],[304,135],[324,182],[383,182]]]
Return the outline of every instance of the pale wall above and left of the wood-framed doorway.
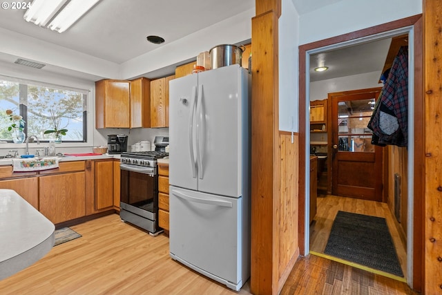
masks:
[[[307,0],[305,0],[307,1]],[[282,16],[288,11],[288,16],[298,19],[296,9],[292,8],[289,0],[282,0]],[[422,13],[422,0],[342,0],[323,6],[313,12],[299,16],[299,21],[280,19],[280,130],[290,130],[292,115],[298,130],[298,52],[296,56],[288,50],[291,46],[299,46],[329,37],[343,35],[363,28],[377,26],[382,23],[419,15]],[[298,24],[296,25],[296,22]],[[289,32],[289,30],[292,30]],[[299,32],[299,33],[296,33]],[[287,72],[287,67],[296,67],[294,73]],[[284,75],[293,73],[289,80]],[[288,94],[290,93],[290,94]],[[292,97],[294,100],[292,101]],[[295,102],[296,106],[291,106]],[[283,109],[282,109],[283,108]],[[290,108],[287,111],[285,108]],[[293,112],[291,111],[293,110]]]

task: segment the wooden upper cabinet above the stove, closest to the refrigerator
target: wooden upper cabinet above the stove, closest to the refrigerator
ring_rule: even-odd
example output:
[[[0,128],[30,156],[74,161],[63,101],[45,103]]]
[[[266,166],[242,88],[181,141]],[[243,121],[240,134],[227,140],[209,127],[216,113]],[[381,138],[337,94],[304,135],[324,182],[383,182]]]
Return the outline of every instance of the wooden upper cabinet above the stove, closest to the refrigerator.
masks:
[[[151,127],[169,127],[169,81],[175,75],[151,81]]]

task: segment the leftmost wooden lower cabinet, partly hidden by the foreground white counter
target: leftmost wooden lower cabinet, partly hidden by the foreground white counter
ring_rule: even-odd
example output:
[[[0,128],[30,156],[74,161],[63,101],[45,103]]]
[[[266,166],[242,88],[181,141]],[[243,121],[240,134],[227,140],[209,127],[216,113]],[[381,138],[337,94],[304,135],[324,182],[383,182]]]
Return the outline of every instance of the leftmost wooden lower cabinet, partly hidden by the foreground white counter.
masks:
[[[35,209],[39,209],[39,181],[37,177],[0,180],[0,189],[17,191],[26,202]]]

